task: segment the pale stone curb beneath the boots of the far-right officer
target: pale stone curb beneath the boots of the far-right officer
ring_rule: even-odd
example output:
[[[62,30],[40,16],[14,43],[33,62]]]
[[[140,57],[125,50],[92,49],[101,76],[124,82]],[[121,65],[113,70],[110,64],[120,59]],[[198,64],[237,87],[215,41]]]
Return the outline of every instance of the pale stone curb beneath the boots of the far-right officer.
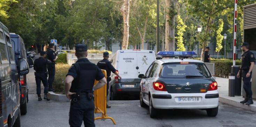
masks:
[[[235,107],[239,107],[239,108],[243,108],[243,109],[247,109],[247,110],[251,110],[251,111],[256,112],[256,105],[255,104],[247,106],[247,105],[242,104],[242,103],[240,103],[238,101],[235,101],[233,99],[227,99],[227,98],[224,98],[224,97],[219,97],[219,102],[226,103],[226,104],[231,105],[231,106],[235,106]]]

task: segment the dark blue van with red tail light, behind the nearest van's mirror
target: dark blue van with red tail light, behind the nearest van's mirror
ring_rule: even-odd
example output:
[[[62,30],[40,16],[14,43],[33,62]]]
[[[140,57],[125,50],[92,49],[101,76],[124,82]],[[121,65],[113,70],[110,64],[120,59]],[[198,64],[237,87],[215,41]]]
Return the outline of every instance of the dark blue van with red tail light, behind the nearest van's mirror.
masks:
[[[19,58],[24,58],[29,63],[29,68],[33,67],[33,60],[32,58],[27,58],[25,44],[21,36],[15,33],[10,33],[10,37],[11,44],[14,47],[13,51],[15,55],[14,58],[17,65],[17,69],[20,68],[18,64]],[[21,75],[20,73],[18,74],[18,78],[21,83],[21,115],[25,115],[27,113],[27,102],[29,101],[29,83],[26,75]]]

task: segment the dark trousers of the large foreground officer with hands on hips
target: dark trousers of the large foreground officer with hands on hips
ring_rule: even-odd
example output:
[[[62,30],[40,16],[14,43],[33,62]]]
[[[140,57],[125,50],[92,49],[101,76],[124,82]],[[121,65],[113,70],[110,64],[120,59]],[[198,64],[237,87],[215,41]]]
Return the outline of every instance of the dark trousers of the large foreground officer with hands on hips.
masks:
[[[80,100],[70,103],[69,125],[81,127],[83,121],[85,127],[95,127],[94,124],[94,101],[87,96],[80,96]]]

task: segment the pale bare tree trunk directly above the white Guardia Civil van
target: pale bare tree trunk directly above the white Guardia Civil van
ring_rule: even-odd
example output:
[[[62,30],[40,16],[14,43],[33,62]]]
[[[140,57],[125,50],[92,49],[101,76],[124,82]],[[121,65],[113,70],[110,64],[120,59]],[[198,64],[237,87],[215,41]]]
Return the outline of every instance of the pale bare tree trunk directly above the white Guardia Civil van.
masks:
[[[124,36],[122,42],[122,49],[127,49],[129,42],[129,12],[130,12],[130,0],[124,0],[123,6],[120,9],[123,22],[124,22]]]

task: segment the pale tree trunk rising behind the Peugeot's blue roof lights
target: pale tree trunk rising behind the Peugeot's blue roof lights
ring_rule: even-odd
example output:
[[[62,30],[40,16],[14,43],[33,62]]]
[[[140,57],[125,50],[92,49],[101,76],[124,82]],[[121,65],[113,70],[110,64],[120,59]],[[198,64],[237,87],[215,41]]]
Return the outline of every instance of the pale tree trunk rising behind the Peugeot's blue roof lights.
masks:
[[[166,20],[165,20],[165,48],[164,51],[170,51],[170,24],[169,20],[171,19],[168,13],[170,12],[170,0],[165,0],[166,5]]]

